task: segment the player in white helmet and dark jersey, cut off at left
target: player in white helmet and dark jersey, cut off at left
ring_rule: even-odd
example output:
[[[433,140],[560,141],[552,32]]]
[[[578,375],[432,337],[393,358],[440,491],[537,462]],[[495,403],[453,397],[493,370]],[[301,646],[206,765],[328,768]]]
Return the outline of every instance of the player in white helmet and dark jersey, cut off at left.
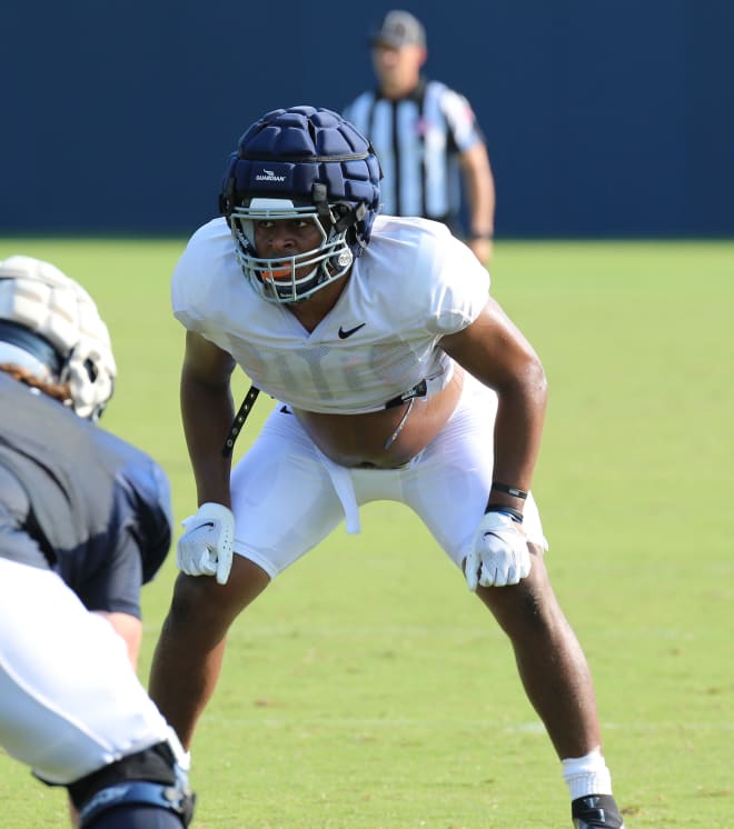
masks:
[[[133,667],[168,482],[91,422],[115,376],[77,282],[0,262],[0,748],[66,787],[81,829],[181,829],[188,759]]]

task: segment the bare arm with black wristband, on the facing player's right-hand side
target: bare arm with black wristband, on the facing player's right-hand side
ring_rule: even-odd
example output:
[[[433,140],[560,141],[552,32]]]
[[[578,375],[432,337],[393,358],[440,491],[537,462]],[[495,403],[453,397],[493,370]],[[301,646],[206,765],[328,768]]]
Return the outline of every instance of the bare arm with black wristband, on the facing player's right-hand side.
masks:
[[[479,317],[440,342],[447,354],[498,396],[494,479],[528,490],[540,448],[547,401],[545,371],[530,343],[499,304],[489,299]],[[492,503],[523,508],[493,491]]]

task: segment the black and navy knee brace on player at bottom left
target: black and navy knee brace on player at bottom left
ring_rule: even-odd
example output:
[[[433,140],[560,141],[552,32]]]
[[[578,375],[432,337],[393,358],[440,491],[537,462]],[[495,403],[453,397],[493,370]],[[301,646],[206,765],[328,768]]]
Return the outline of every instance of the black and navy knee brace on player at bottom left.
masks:
[[[80,829],[181,829],[195,796],[168,742],[123,757],[71,783]]]

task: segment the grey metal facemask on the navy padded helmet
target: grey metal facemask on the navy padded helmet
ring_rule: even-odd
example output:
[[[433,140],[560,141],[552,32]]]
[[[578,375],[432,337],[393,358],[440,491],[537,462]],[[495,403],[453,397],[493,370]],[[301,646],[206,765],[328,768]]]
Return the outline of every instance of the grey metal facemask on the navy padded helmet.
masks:
[[[254,198],[248,207],[232,210],[229,226],[237,259],[245,276],[264,299],[286,304],[300,302],[349,270],[354,261],[347,241],[349,229],[339,224],[344,208],[333,204],[324,209],[296,206],[289,199]],[[321,237],[318,248],[290,257],[259,257],[255,243],[255,222],[294,219],[314,222]]]

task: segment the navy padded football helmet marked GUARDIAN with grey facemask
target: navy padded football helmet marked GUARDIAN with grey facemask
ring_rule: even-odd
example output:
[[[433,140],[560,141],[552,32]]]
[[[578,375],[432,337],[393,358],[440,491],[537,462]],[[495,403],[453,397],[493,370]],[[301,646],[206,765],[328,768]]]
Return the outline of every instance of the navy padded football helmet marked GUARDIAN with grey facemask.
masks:
[[[229,159],[219,197],[250,283],[265,299],[289,303],[344,276],[369,241],[381,177],[369,141],[331,110],[277,109],[256,121]],[[285,219],[314,221],[319,247],[258,256],[255,222]]]

